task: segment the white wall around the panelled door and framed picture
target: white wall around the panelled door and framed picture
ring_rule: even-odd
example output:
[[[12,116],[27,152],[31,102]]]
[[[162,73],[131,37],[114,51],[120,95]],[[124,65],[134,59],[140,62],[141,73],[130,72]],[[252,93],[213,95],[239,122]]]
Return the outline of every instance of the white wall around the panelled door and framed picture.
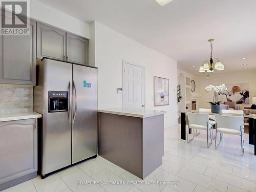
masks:
[[[98,108],[122,107],[122,60],[145,67],[146,109],[167,111],[165,127],[177,124],[177,61],[95,22],[95,66],[99,68]],[[154,107],[154,76],[170,80],[169,105]]]

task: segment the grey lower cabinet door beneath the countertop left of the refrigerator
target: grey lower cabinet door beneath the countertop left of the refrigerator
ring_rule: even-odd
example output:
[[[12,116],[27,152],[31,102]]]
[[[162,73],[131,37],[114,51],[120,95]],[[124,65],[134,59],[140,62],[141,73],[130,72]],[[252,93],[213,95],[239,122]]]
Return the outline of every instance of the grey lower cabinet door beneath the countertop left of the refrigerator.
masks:
[[[37,171],[37,119],[0,122],[0,184]]]

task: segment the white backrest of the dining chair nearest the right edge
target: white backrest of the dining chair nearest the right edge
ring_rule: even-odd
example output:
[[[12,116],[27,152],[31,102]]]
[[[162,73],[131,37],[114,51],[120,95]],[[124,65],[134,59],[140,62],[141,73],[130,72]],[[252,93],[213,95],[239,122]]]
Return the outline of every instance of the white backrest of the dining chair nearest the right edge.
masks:
[[[239,130],[244,124],[243,116],[226,116],[215,114],[217,128],[227,128],[233,130]]]

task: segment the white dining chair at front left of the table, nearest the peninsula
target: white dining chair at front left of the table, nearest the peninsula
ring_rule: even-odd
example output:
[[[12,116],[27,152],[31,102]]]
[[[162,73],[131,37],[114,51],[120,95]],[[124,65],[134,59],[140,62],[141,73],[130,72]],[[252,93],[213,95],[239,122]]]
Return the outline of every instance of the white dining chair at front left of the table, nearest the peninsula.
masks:
[[[208,114],[196,114],[196,113],[187,113],[188,117],[188,126],[187,126],[187,143],[194,139],[194,137],[198,136],[195,135],[195,130],[206,130],[207,134],[207,147],[209,148],[212,144],[212,125],[209,124],[209,115]],[[193,138],[189,140],[189,129],[193,129]],[[210,134],[210,144],[208,142],[208,135]]]

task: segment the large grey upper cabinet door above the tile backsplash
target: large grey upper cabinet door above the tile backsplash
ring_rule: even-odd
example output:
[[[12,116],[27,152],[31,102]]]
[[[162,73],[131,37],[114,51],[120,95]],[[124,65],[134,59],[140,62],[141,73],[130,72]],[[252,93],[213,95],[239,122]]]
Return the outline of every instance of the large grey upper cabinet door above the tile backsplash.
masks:
[[[30,35],[0,36],[0,83],[35,85],[36,26]]]

